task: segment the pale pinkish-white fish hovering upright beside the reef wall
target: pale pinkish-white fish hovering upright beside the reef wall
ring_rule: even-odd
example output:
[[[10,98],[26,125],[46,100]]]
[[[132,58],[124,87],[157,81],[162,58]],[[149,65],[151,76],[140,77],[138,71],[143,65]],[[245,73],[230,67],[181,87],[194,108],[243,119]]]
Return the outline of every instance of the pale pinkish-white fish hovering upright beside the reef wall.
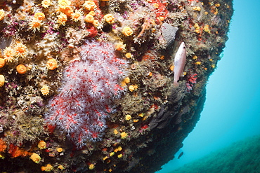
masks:
[[[174,87],[178,87],[178,79],[183,74],[183,69],[186,62],[186,46],[182,42],[178,47],[177,53],[174,57]]]

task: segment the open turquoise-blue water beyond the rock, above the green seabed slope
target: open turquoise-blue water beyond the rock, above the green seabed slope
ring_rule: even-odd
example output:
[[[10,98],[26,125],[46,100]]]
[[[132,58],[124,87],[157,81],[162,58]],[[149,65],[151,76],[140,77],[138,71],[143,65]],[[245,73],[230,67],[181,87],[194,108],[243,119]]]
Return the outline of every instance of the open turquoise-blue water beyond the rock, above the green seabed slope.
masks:
[[[167,173],[234,141],[260,134],[260,1],[235,0],[229,40],[218,68],[209,78],[200,121],[183,141],[180,159]]]

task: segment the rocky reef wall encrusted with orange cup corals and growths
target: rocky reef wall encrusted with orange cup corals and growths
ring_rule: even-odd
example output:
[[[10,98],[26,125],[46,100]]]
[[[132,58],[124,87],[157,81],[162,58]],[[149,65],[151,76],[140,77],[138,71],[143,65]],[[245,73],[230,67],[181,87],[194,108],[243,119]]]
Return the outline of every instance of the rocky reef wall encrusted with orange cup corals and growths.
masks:
[[[0,1],[0,171],[159,170],[200,119],[232,15],[228,0]]]

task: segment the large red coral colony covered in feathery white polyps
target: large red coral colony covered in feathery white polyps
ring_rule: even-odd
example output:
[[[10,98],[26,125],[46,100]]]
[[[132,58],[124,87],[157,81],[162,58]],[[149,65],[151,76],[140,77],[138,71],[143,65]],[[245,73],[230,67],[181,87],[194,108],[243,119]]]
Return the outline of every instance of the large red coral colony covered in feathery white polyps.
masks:
[[[119,83],[127,67],[111,43],[86,41],[81,59],[65,68],[60,94],[51,99],[45,116],[80,147],[102,139],[105,119],[115,111],[113,100],[124,92]]]

